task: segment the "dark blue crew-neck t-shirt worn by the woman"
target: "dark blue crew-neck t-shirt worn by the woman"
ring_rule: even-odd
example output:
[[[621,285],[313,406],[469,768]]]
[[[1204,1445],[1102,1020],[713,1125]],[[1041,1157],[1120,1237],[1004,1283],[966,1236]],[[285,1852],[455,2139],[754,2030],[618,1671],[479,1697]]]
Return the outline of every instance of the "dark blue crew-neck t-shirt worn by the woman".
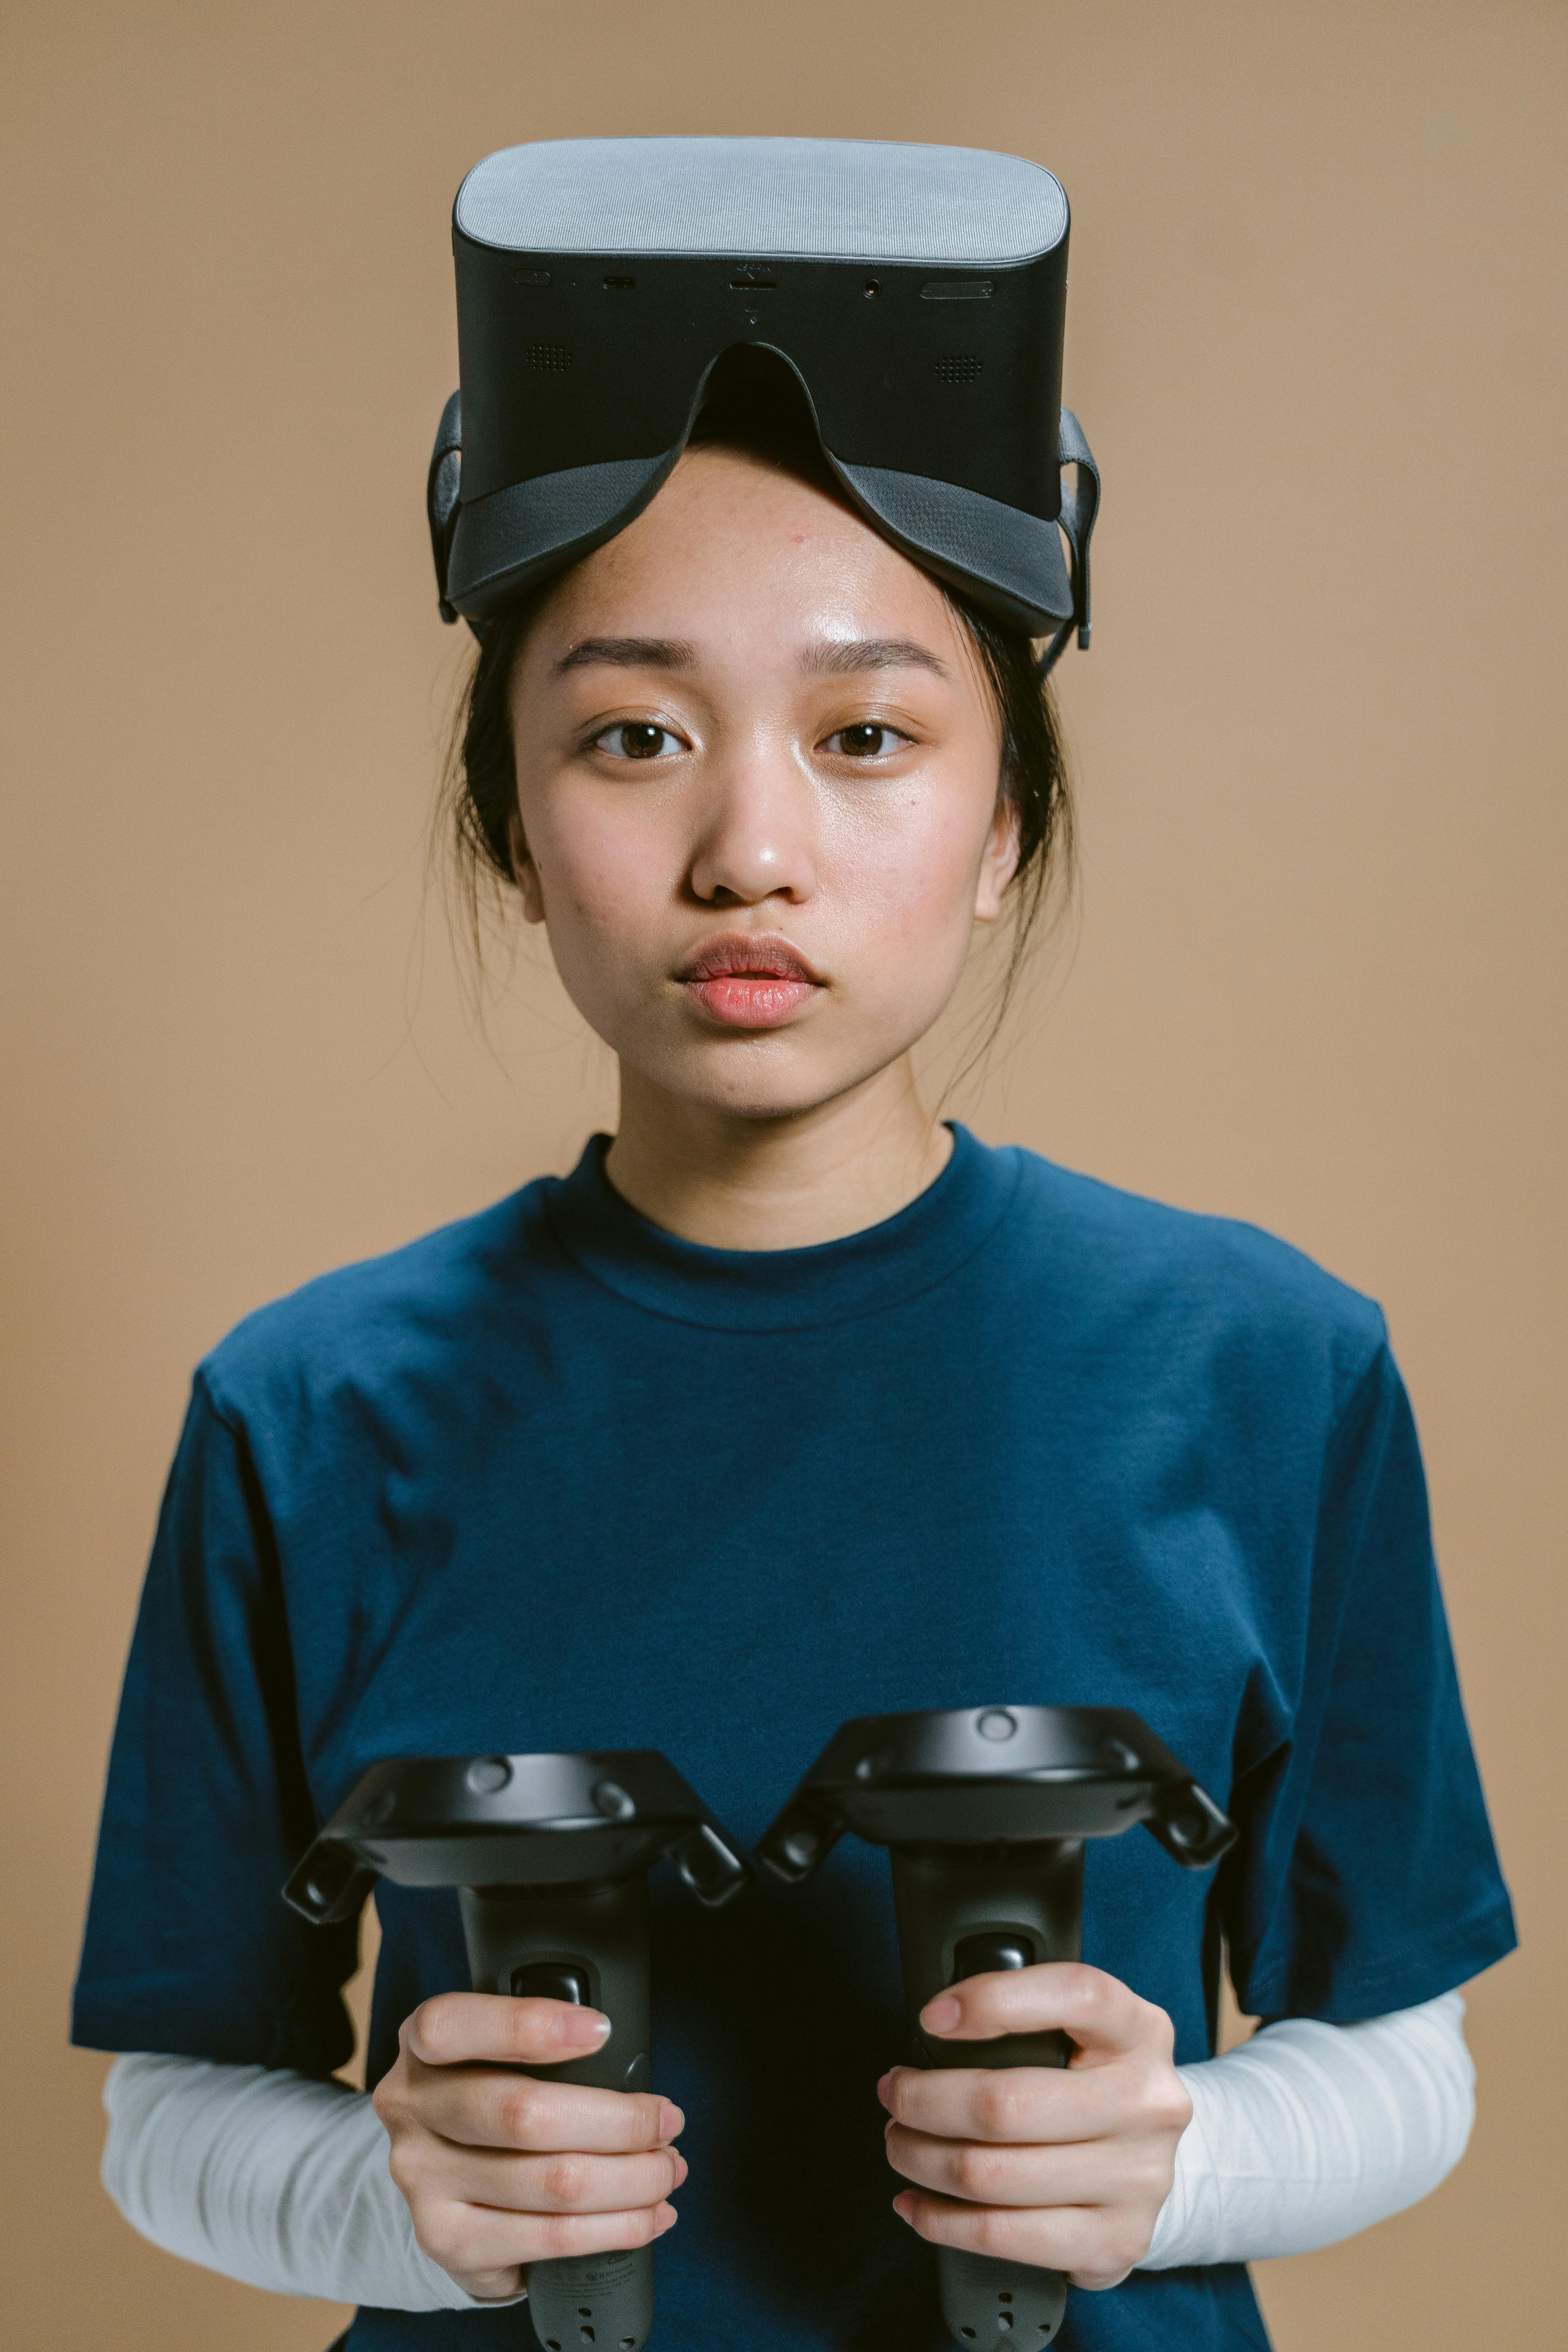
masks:
[[[280,1886],[378,1757],[663,1748],[745,1842],[849,1715],[1133,1708],[1241,1828],[1091,1844],[1084,1957],[1213,2049],[1512,1947],[1410,1409],[1378,1308],[1265,1235],[957,1129],[818,1249],[701,1249],[576,1174],[240,1324],[200,1367],[115,1733],[75,2039],[329,2072],[355,1929]],[[668,1884],[665,1884],[668,1882]],[[656,2086],[691,2178],[654,2345],[933,2352],[891,2213],[889,1863],[701,1912],[654,1875]],[[383,1884],[371,2082],[465,1985]],[[1063,2352],[1265,2345],[1241,2267],[1072,2293]],[[353,2352],[531,2352],[527,2305]]]

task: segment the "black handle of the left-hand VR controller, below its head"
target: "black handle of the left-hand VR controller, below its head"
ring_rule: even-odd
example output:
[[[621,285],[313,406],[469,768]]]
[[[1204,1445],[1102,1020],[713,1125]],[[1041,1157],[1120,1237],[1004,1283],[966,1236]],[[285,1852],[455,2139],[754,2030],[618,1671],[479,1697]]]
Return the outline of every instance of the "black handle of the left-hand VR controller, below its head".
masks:
[[[475,1992],[543,1994],[609,2018],[602,2049],[524,2072],[597,2091],[649,2089],[642,1872],[602,1886],[461,1886],[458,1903]],[[529,2263],[529,2314],[543,2352],[642,2352],[654,2326],[654,2246]]]

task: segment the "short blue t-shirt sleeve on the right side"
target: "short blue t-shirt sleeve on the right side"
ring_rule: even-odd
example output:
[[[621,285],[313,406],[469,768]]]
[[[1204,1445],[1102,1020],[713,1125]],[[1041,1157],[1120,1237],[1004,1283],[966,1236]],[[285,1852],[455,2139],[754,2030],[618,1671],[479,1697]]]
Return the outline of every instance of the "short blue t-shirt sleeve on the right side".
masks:
[[[1239,1778],[1234,1811],[1218,1898],[1251,2016],[1410,2009],[1514,1947],[1387,1345],[1324,1463],[1295,1736]]]

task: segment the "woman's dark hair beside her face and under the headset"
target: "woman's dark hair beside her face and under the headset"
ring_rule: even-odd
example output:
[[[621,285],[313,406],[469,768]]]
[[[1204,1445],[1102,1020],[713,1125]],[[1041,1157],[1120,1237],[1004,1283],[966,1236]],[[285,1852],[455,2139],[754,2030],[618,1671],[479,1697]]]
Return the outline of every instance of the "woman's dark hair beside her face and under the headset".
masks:
[[[689,447],[743,449],[842,496],[795,376],[764,353],[736,350],[719,362]],[[534,614],[552,586],[555,579],[545,581],[489,623],[454,717],[444,809],[475,948],[482,941],[487,889],[515,882],[510,828],[517,816],[517,762],[510,684]],[[1013,941],[990,1023],[994,1037],[1051,887],[1072,882],[1072,790],[1051,689],[1030,637],[992,619],[959,588],[943,586],[943,595],[969,630],[992,689],[1001,722],[997,793],[1018,821],[1018,868],[1009,882]]]

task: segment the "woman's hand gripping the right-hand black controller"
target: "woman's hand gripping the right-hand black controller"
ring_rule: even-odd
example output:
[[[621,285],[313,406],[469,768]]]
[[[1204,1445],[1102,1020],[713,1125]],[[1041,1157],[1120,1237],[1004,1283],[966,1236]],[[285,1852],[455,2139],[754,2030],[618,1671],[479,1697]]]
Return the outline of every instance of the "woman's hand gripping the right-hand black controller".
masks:
[[[1063,2070],[884,2074],[889,2164],[919,2183],[893,2211],[933,2246],[1065,2270],[1074,2286],[1126,2279],[1192,2122],[1164,2009],[1100,1969],[1048,1964],[971,1976],[919,2023],[940,2042],[1063,2027],[1077,2051]]]

